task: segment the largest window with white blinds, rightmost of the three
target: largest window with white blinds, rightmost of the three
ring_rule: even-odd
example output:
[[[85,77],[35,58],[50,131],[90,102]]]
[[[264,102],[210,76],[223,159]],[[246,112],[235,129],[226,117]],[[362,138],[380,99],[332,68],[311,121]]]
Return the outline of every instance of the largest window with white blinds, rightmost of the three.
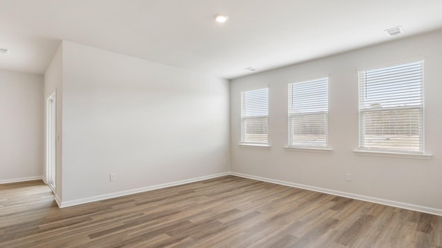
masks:
[[[359,148],[423,153],[423,61],[359,71]]]

